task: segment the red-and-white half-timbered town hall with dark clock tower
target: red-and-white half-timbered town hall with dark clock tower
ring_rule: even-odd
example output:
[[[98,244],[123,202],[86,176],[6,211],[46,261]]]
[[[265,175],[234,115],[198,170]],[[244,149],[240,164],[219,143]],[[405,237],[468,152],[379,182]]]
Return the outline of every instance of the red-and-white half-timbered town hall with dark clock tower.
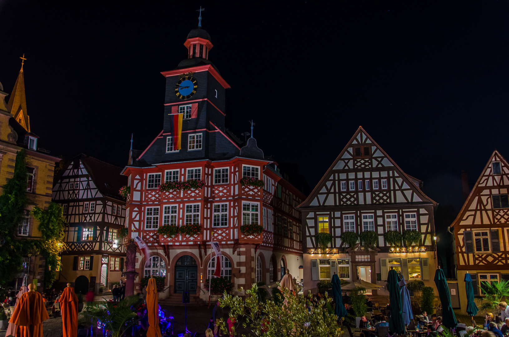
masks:
[[[221,275],[238,289],[257,280],[280,279],[281,259],[297,275],[298,258],[302,260],[296,243],[300,224],[289,207],[303,196],[292,192],[296,199],[290,206],[285,198],[292,188],[278,187],[281,176],[276,163],[265,158],[255,138],[242,142],[225,128],[225,94],[230,86],[209,60],[209,34],[199,26],[190,31],[184,46],[187,58],[176,69],[162,72],[166,78],[162,131],[144,151],[130,151],[123,171],[130,187],[129,238],[139,237],[150,251],[150,256],[137,252],[135,284],[141,277],[165,276],[168,288],[160,296],[170,297],[167,301],[175,304],[181,303],[177,294],[182,292],[190,292],[194,302],[200,301],[199,296],[207,298],[205,281],[214,277],[216,263],[221,263]],[[194,90],[186,92],[189,85],[182,85],[184,80],[192,81]],[[180,149],[176,143],[179,114]],[[242,184],[243,177],[264,184]],[[204,187],[158,189],[161,183],[191,180],[203,181]],[[279,204],[285,210],[278,213],[281,226],[287,219],[291,229],[281,227],[274,240],[274,208]],[[199,225],[200,233],[166,237],[157,233],[161,226],[188,224]],[[244,235],[243,224],[263,225],[263,231]],[[219,243],[222,261],[215,261],[211,254],[211,241]]]

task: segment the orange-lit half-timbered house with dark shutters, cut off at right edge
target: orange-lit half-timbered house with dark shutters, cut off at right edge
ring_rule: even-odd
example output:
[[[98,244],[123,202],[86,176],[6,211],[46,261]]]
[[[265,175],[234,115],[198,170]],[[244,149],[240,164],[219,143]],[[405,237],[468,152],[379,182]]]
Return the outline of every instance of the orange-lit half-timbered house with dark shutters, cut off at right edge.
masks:
[[[451,225],[456,241],[459,293],[465,293],[470,273],[474,295],[484,283],[509,280],[509,164],[493,151],[465,204]],[[460,296],[465,308],[466,298]],[[484,312],[478,313],[484,315]]]

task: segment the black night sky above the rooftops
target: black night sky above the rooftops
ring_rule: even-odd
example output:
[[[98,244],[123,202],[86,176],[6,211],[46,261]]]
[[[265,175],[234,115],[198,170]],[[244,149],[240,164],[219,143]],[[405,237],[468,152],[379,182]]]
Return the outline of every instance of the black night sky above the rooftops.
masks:
[[[0,81],[25,53],[27,109],[40,145],[124,166],[131,133],[162,129],[165,79],[203,27],[231,85],[227,127],[256,123],[265,155],[314,186],[359,125],[425,192],[462,204],[496,148],[509,157],[509,3],[28,2],[0,0]]]

